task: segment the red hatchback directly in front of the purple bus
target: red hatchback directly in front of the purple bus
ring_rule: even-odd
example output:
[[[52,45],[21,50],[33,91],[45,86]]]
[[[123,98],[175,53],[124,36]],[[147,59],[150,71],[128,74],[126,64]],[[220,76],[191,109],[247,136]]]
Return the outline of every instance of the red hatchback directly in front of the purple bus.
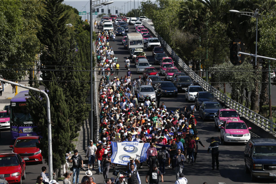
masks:
[[[38,136],[17,137],[12,148],[12,153],[18,153],[25,162],[40,162],[42,164],[41,150],[37,146],[40,143]]]

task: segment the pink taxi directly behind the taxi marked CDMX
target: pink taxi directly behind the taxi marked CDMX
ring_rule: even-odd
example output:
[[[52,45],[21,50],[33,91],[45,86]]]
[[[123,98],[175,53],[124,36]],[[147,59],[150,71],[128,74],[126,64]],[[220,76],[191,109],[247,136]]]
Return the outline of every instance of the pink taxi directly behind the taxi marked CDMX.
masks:
[[[220,131],[221,125],[226,120],[232,120],[233,118],[239,120],[239,114],[234,109],[220,109],[214,115],[215,118],[215,129]]]

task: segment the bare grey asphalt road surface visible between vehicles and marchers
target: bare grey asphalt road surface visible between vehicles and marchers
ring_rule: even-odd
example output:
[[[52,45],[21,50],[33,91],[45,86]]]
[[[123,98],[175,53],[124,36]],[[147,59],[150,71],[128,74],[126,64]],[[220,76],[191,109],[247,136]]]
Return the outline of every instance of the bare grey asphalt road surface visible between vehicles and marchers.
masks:
[[[133,26],[129,26],[130,32],[135,32]],[[115,56],[118,57],[118,62],[120,67],[124,67],[125,57],[129,56],[129,52],[123,48],[121,44],[121,36],[116,37],[115,43],[111,42],[110,45],[113,47]],[[151,51],[147,51],[145,48],[145,53],[147,55],[147,59],[150,61],[150,64],[154,67],[159,66],[154,65],[154,60],[152,57]],[[134,63],[131,62],[131,70],[135,70]],[[124,68],[120,69],[119,75],[124,76],[126,74],[126,70]],[[136,74],[136,72],[132,72],[133,77],[137,78],[141,74]],[[98,76],[99,78],[100,76]],[[132,77],[132,78],[133,78]],[[164,78],[164,76],[161,76]],[[180,107],[181,110],[183,106],[191,106],[193,103],[188,103],[185,100],[184,93],[179,93],[178,97],[162,97],[161,102],[164,102],[168,110],[175,110],[176,107]],[[196,112],[196,116],[198,113]],[[198,136],[202,143],[206,146],[203,148],[199,145],[198,149],[198,158],[197,163],[193,166],[187,164],[183,169],[183,173],[185,173],[185,177],[188,179],[188,183],[203,183],[207,182],[208,184],[219,183],[219,184],[232,184],[232,183],[251,183],[250,175],[246,174],[244,171],[244,157],[243,152],[245,148],[244,143],[233,143],[229,145],[220,145],[220,170],[212,171],[211,166],[211,154],[207,154],[207,148],[210,144],[210,137],[220,136],[219,132],[216,132],[214,129],[214,121],[205,121],[203,122],[201,118],[197,118],[198,124]],[[251,134],[251,137],[259,137],[260,135]],[[0,153],[11,152],[11,148],[9,145],[12,145],[14,142],[10,140],[10,131],[1,131],[1,149]],[[22,183],[35,183],[37,176],[41,173],[41,167],[47,166],[43,162],[43,164],[27,164],[26,165],[26,179],[23,180]],[[48,167],[47,167],[48,168]],[[120,166],[120,168],[125,168]],[[143,169],[138,169],[139,175],[142,181],[142,184],[145,183],[145,174],[148,168],[143,167]],[[109,177],[114,177],[112,175],[113,169],[110,169]],[[95,173],[95,171],[93,171]],[[93,175],[96,179],[96,183],[103,183],[102,175]],[[176,180],[175,171],[172,168],[166,168],[166,175],[164,175],[164,183],[174,183]],[[257,183],[275,183],[273,180],[265,179],[259,180]]]

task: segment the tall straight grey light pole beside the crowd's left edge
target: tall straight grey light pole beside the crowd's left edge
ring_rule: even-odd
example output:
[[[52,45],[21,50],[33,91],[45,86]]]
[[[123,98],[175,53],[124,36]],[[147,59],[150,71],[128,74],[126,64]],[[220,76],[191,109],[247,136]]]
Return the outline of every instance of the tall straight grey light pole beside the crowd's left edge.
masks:
[[[90,139],[94,139],[93,137],[93,19],[92,19],[92,11],[96,9],[96,7],[100,8],[103,5],[109,5],[113,3],[113,1],[108,0],[90,0],[90,103],[91,103],[91,111],[90,111]],[[97,105],[97,104],[95,104]]]

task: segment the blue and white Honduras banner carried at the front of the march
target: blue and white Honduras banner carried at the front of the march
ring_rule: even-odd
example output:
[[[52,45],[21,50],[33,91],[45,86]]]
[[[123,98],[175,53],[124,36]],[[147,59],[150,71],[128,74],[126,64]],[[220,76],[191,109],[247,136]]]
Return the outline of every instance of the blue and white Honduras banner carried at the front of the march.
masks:
[[[120,165],[127,165],[129,158],[137,158],[140,162],[147,160],[147,148],[149,143],[138,143],[132,141],[113,142],[111,162]]]

